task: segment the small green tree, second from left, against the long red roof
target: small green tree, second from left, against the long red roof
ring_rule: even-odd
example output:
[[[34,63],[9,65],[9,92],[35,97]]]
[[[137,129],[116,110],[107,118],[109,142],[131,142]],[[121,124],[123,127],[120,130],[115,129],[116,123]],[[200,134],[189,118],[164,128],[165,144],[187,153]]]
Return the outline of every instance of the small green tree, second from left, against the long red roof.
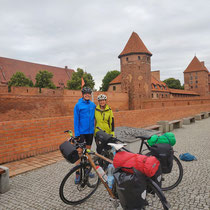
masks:
[[[36,74],[36,87],[55,89],[56,86],[52,82],[53,74],[48,71],[39,71]]]

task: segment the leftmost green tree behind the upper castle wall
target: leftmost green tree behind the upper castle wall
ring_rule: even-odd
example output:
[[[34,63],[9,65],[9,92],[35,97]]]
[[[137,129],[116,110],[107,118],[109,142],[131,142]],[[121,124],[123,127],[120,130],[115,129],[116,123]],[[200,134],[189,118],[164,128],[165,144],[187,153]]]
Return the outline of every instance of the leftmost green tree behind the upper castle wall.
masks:
[[[16,72],[12,75],[8,82],[9,89],[11,89],[11,86],[33,87],[33,82],[29,78],[27,78],[23,72]]]

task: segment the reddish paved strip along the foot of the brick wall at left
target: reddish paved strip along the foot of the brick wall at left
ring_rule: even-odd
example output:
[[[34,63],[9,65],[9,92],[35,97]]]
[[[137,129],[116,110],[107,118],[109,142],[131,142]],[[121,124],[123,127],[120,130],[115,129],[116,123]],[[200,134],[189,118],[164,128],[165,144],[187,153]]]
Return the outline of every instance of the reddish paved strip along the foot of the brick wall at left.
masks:
[[[26,158],[23,160],[18,160],[10,163],[3,164],[9,168],[9,176],[13,177],[37,168],[41,168],[43,166],[50,165],[52,163],[56,163],[59,160],[63,160],[63,156],[60,153],[60,150],[49,152],[46,154]]]

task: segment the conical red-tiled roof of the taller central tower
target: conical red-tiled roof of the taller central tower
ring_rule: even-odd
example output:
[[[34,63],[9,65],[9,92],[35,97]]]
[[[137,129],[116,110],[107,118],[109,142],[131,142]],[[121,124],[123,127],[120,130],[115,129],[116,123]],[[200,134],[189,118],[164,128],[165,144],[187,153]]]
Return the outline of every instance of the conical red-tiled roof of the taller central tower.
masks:
[[[152,55],[152,53],[146,48],[140,37],[137,33],[133,32],[125,45],[125,48],[120,53],[118,58],[122,56],[131,55],[131,54],[138,54],[138,53],[146,53],[148,55]]]

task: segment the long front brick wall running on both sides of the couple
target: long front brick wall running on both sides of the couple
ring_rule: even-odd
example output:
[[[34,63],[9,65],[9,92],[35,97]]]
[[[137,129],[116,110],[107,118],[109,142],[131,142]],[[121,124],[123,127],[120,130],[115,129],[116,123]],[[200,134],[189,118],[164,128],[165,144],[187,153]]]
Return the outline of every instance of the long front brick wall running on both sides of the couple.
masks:
[[[210,111],[210,104],[114,112],[116,127],[146,127]],[[0,122],[0,164],[58,149],[73,130],[73,116]]]

